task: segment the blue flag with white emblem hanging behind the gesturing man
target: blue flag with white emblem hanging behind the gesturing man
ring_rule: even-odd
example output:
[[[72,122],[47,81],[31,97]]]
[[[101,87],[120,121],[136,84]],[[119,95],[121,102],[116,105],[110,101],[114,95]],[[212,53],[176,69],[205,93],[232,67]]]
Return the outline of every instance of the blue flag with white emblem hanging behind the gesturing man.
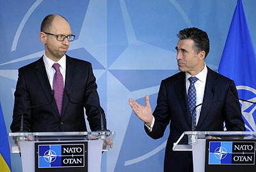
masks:
[[[239,98],[256,102],[256,56],[241,0],[237,1],[218,72],[235,81]],[[240,104],[246,130],[256,131],[256,106]]]

